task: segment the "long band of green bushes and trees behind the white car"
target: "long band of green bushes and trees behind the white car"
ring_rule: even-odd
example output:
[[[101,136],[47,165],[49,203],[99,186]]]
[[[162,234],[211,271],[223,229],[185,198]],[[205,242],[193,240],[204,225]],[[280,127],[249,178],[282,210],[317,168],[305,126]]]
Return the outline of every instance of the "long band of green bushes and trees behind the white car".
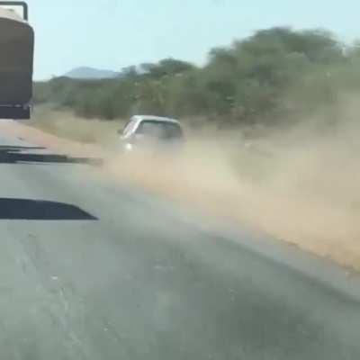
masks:
[[[329,31],[272,28],[211,49],[203,67],[167,58],[142,64],[141,71],[127,67],[115,79],[39,82],[34,102],[107,121],[142,112],[207,118],[220,126],[271,124],[360,90],[359,51],[344,49]]]

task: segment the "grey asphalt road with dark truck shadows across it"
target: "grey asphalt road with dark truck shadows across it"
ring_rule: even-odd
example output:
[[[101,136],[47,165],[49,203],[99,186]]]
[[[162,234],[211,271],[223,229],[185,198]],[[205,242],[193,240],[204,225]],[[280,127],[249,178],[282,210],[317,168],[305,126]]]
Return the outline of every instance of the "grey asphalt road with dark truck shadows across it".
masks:
[[[343,270],[31,147],[0,139],[2,359],[360,358]]]

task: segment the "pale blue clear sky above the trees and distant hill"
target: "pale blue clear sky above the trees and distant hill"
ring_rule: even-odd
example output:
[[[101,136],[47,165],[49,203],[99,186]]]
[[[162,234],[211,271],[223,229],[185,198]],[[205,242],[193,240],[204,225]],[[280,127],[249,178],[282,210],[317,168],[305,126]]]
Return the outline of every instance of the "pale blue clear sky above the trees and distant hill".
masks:
[[[271,26],[326,28],[360,38],[358,0],[28,0],[35,79],[74,67],[121,67],[181,58],[206,61],[213,47]]]

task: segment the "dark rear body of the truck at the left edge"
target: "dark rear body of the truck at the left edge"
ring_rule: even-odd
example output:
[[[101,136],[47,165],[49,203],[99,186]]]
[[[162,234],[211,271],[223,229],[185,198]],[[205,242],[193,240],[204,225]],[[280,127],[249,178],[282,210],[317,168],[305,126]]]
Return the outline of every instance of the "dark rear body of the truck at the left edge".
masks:
[[[33,51],[29,23],[0,7],[0,119],[30,118]]]

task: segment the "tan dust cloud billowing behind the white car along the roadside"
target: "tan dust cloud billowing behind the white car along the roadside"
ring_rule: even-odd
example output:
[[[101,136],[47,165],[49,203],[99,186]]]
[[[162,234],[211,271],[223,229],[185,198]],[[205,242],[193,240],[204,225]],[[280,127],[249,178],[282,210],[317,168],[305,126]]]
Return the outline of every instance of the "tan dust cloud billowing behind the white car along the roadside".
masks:
[[[189,137],[175,156],[112,157],[109,174],[360,270],[356,99],[297,125]],[[120,166],[121,164],[121,166]]]

